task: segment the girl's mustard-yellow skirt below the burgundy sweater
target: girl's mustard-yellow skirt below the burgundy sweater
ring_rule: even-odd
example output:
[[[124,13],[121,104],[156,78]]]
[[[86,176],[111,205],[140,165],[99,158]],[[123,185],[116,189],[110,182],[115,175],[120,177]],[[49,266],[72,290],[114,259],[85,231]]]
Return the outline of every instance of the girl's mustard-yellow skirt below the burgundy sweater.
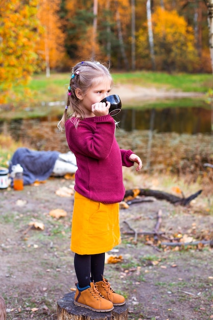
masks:
[[[70,249],[79,255],[94,255],[119,243],[119,203],[97,202],[75,192]]]

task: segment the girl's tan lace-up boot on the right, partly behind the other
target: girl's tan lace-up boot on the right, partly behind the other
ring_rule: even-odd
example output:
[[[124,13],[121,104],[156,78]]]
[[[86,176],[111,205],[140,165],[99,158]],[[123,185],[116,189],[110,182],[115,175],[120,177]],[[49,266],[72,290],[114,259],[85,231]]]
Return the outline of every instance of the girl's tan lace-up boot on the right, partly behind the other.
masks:
[[[122,306],[125,304],[123,295],[115,293],[110,287],[109,282],[103,278],[102,281],[96,282],[97,289],[104,296],[105,299],[111,301],[114,306]]]

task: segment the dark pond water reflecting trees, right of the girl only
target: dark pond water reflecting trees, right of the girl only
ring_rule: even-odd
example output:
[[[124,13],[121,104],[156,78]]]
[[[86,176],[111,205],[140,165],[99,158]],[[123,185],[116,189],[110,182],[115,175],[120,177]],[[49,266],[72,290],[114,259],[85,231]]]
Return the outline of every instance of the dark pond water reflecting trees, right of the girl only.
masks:
[[[119,120],[120,128],[126,131],[151,129],[189,134],[211,132],[210,108],[123,109],[115,120]]]

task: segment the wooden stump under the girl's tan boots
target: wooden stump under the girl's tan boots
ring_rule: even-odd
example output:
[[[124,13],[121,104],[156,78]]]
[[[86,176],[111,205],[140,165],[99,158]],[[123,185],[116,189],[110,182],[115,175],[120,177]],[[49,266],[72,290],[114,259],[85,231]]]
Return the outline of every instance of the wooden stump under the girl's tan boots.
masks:
[[[115,306],[109,312],[95,312],[74,305],[75,292],[66,293],[57,303],[58,320],[128,320],[128,304]]]

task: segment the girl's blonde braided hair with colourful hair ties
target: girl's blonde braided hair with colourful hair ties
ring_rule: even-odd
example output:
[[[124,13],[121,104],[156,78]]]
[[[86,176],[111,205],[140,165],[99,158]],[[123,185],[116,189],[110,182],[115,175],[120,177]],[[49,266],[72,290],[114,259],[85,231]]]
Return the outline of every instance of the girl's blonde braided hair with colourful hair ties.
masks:
[[[81,100],[76,96],[76,89],[79,88],[82,95],[85,95],[92,86],[98,84],[98,81],[100,80],[98,78],[100,77],[108,77],[111,81],[112,87],[113,80],[110,75],[109,68],[100,62],[82,61],[72,68],[72,76],[70,78],[67,92],[66,107],[61,120],[58,122],[58,128],[60,131],[63,130],[66,120],[71,118],[74,112],[80,116],[74,120],[76,127],[78,126],[79,121],[85,118],[84,111],[81,109],[79,104]]]

